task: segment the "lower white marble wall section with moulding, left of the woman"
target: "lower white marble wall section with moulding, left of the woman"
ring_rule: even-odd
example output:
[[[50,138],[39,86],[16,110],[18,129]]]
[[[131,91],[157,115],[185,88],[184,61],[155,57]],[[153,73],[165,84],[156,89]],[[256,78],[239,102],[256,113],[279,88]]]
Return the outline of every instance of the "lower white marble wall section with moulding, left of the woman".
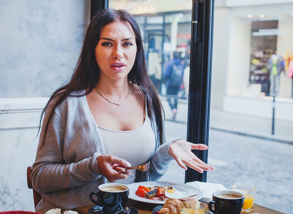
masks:
[[[0,211],[34,211],[26,170],[35,161],[37,126],[47,98],[0,99]]]

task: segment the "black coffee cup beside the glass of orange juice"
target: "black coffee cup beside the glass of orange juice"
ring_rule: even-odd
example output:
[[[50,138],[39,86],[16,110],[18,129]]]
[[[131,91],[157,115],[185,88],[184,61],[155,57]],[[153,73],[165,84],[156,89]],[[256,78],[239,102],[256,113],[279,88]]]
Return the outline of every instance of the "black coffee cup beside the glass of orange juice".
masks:
[[[232,190],[213,192],[213,200],[209,202],[209,211],[214,214],[240,214],[244,203],[244,195]]]

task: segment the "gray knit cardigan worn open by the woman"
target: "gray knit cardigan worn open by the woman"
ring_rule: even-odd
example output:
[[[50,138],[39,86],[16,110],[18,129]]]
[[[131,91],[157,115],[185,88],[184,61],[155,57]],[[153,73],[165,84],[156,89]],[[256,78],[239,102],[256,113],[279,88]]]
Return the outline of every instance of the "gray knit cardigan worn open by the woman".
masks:
[[[74,94],[83,93],[84,91],[80,91]],[[136,182],[159,180],[173,160],[168,151],[174,140],[160,146],[154,111],[150,114],[156,149],[150,158],[150,169],[147,172],[137,172]],[[42,129],[40,142],[43,137]],[[42,147],[39,143],[33,164],[32,184],[42,194],[36,212],[45,213],[52,208],[64,211],[91,204],[91,191],[97,191],[98,186],[106,182],[96,161],[101,154],[105,154],[103,140],[89,110],[86,96],[67,97],[57,106],[49,123],[45,143]]]

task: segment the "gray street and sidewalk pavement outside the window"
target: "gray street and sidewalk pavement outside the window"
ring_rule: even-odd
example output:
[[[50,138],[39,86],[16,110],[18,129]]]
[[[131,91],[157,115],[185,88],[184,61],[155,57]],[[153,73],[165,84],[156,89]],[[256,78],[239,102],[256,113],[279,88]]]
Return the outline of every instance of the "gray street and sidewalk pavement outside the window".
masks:
[[[166,113],[166,139],[183,138],[187,133],[187,101],[178,104],[176,120],[162,99]],[[207,172],[207,182],[223,184],[251,183],[257,187],[255,203],[293,213],[293,123],[263,118],[210,113],[208,163],[216,170]],[[160,181],[184,183],[185,170],[172,161]]]

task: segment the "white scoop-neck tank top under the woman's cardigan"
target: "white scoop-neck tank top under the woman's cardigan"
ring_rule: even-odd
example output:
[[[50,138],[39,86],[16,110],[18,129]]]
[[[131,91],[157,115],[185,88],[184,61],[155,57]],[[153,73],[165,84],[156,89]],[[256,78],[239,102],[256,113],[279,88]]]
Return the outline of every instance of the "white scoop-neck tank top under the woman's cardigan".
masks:
[[[105,154],[114,155],[127,160],[131,166],[138,166],[145,163],[155,151],[156,139],[151,129],[151,120],[147,114],[147,101],[145,101],[146,118],[141,127],[130,131],[109,130],[99,125],[105,147]],[[127,179],[117,180],[117,183],[131,184],[135,182],[136,170],[131,170],[134,177],[128,176]]]

